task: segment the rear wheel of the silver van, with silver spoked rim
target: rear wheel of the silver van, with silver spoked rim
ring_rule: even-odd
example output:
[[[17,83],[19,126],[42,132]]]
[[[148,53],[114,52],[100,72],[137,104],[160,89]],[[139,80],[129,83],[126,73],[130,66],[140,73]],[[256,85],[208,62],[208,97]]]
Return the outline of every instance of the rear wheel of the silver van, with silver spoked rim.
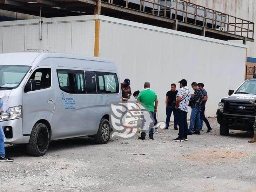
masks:
[[[106,144],[110,139],[110,123],[107,119],[101,119],[99,130],[94,136],[97,144]]]

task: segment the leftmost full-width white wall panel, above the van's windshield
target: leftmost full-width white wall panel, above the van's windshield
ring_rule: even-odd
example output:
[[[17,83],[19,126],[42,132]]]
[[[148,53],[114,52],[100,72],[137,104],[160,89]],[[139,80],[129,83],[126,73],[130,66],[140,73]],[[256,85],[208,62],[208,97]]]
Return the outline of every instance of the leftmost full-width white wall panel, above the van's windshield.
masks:
[[[4,27],[3,52],[24,51],[25,26]]]

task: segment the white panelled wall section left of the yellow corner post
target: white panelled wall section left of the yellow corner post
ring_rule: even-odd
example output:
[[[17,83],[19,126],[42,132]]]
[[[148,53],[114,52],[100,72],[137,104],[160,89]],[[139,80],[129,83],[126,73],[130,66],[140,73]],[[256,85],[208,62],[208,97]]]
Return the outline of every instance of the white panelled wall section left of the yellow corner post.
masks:
[[[0,52],[37,51],[94,56],[95,16],[0,22]]]

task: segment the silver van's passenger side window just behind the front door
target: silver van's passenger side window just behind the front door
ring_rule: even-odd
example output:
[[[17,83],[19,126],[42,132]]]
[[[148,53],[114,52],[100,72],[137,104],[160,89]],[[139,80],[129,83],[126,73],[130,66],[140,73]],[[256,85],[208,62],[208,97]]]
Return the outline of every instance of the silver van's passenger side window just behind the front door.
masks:
[[[72,94],[86,93],[83,71],[57,69],[57,74],[62,91]]]

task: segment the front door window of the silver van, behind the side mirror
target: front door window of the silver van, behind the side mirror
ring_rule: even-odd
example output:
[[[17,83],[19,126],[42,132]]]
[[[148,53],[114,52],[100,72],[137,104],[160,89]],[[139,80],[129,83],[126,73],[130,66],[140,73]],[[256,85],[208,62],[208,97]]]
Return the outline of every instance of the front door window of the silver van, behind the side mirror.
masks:
[[[36,80],[36,90],[49,88],[51,84],[51,69],[36,69],[29,80]]]

